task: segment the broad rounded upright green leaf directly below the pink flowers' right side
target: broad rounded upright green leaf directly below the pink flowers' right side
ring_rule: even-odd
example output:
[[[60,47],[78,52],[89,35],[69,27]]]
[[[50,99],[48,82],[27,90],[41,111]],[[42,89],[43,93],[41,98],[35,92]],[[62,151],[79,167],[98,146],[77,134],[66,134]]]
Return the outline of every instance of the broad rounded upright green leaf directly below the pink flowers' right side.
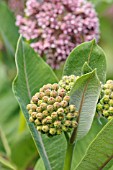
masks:
[[[69,55],[65,66],[64,75],[74,74],[81,76],[84,63],[95,69],[100,81],[106,80],[106,59],[103,50],[96,44],[95,40],[85,42],[76,47]]]

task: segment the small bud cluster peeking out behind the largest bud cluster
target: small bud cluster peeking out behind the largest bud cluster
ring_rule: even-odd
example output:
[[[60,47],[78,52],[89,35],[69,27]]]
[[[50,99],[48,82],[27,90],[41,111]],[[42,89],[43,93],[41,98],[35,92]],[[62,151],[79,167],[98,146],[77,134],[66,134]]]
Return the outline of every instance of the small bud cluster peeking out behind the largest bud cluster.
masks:
[[[71,76],[63,76],[59,81],[60,88],[64,88],[67,94],[70,93],[75,81],[79,78],[79,76],[71,75]]]

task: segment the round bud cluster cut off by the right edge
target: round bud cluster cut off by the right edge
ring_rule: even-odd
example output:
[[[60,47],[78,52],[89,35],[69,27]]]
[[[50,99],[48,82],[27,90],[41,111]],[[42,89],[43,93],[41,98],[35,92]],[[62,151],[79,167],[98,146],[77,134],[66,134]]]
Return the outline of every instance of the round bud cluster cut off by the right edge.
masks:
[[[106,84],[102,85],[96,111],[108,120],[113,118],[113,80],[108,80]]]

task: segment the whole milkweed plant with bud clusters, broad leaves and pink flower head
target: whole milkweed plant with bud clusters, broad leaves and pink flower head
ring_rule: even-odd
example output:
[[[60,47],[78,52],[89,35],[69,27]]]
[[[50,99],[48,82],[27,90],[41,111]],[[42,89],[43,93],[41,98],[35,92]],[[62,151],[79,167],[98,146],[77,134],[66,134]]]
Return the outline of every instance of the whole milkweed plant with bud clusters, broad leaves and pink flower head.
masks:
[[[36,169],[113,168],[113,80],[92,4],[28,0],[16,24],[13,92],[40,154]],[[59,80],[53,69],[62,61]]]

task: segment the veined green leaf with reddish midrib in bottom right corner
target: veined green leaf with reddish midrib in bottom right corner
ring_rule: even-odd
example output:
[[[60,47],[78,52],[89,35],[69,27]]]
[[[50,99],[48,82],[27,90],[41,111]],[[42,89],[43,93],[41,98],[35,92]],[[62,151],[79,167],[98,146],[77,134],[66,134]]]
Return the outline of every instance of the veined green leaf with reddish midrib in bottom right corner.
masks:
[[[104,170],[113,159],[113,120],[109,121],[88,147],[76,170]]]

